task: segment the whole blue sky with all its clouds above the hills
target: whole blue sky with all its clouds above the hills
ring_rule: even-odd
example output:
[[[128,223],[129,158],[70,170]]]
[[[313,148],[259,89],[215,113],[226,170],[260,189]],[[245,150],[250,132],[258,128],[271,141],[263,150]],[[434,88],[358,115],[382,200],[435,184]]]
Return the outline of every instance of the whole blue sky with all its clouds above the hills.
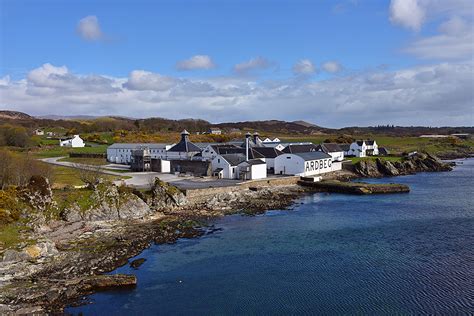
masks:
[[[472,126],[472,0],[0,0],[0,109]]]

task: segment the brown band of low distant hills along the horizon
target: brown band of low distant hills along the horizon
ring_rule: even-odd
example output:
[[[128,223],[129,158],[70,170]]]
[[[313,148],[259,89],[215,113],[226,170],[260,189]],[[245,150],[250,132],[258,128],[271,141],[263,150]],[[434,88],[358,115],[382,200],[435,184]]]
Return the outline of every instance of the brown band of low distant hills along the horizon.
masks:
[[[58,116],[48,115],[33,117],[18,111],[0,111],[0,124],[8,123],[21,125],[28,129],[34,128],[56,128],[74,130],[77,133],[100,133],[113,132],[117,130],[144,131],[144,132],[181,132],[186,129],[189,132],[204,132],[211,127],[216,127],[228,132],[238,129],[242,132],[258,131],[270,136],[277,135],[318,135],[318,134],[346,134],[360,137],[370,137],[371,134],[387,136],[420,136],[423,134],[470,133],[474,134],[474,127],[424,127],[424,126],[393,126],[380,125],[369,127],[344,127],[332,129],[321,127],[306,121],[286,122],[281,120],[244,121],[212,124],[200,119],[171,120],[161,117],[146,119],[134,119],[120,116]]]

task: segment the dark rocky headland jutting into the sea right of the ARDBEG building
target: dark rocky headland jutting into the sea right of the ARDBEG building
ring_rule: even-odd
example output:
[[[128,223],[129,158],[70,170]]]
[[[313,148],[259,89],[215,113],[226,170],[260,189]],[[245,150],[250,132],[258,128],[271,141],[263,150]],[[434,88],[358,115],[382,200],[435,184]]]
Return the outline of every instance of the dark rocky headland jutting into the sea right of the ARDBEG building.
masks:
[[[370,178],[406,175],[416,172],[451,170],[451,165],[444,163],[436,156],[427,153],[418,153],[406,157],[402,161],[391,162],[377,158],[376,160],[361,160],[354,165],[355,173]]]

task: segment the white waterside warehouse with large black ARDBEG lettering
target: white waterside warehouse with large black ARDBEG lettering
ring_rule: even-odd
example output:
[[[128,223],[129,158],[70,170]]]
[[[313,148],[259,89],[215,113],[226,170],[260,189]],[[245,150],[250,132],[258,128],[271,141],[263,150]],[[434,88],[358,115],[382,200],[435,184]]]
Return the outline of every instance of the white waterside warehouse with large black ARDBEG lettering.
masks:
[[[283,154],[275,159],[275,174],[313,176],[342,169],[342,163],[321,151]]]

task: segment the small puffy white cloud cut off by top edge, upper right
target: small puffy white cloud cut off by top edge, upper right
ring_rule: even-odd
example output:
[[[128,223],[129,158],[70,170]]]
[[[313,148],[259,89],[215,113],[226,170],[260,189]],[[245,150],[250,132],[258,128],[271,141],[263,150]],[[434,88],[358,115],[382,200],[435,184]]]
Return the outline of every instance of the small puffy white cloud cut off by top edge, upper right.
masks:
[[[425,9],[418,0],[392,0],[390,21],[403,27],[419,31],[425,20]]]

